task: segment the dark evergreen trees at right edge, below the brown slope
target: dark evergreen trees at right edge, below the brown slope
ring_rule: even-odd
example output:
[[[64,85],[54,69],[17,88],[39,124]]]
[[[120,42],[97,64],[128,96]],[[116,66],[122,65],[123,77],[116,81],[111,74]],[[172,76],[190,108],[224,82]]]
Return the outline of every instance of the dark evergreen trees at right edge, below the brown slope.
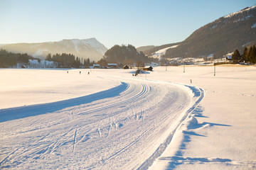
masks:
[[[235,62],[242,60],[245,62],[250,62],[252,64],[255,64],[256,63],[256,47],[255,47],[255,45],[252,45],[249,48],[247,48],[245,46],[245,48],[242,52],[242,55],[240,55],[240,52],[238,51],[238,49],[236,49],[233,52],[232,60]]]

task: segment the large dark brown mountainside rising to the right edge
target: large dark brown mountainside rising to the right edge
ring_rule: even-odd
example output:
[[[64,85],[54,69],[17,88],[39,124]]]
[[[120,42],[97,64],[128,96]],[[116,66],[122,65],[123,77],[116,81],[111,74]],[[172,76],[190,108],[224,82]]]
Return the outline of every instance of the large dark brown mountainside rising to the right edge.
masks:
[[[194,31],[186,40],[178,42],[175,48],[166,50],[164,57],[223,57],[245,46],[256,44],[256,6],[244,8]],[[162,45],[162,47],[171,47]],[[155,47],[154,52],[159,50]],[[145,51],[146,52],[146,51]],[[152,50],[151,55],[154,54]]]

